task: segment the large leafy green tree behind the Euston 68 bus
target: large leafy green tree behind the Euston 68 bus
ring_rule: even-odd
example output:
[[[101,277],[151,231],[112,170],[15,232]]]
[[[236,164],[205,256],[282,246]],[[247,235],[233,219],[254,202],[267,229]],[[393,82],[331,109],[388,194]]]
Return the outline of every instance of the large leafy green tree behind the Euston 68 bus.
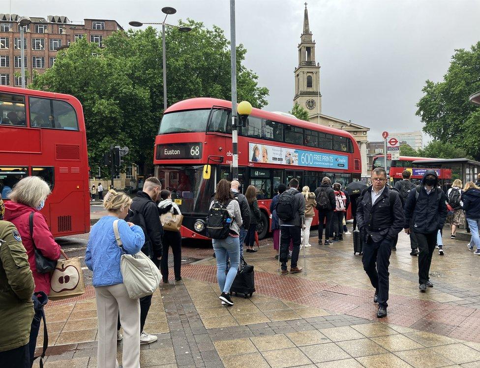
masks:
[[[230,47],[221,28],[166,30],[168,106],[193,97],[231,99]],[[237,47],[238,99],[253,107],[267,104],[269,90],[243,65],[246,50]],[[152,162],[153,144],[163,115],[161,31],[118,31],[104,47],[81,39],[58,53],[55,65],[35,76],[31,88],[68,93],[83,105],[90,167],[100,166],[111,144],[128,146],[126,163]]]

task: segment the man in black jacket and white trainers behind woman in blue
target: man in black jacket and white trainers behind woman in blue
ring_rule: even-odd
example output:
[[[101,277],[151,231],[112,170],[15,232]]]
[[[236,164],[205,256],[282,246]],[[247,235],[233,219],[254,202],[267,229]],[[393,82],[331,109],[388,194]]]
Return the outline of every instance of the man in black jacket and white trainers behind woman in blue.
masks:
[[[142,227],[145,232],[145,244],[142,252],[148,255],[155,264],[158,265],[162,258],[162,235],[163,228],[160,223],[160,216],[156,201],[160,198],[162,184],[156,177],[149,177],[145,180],[143,190],[137,192],[133,198],[130,208],[137,214],[129,213],[127,221],[133,222],[135,225]],[[169,208],[170,209],[170,208]],[[150,310],[151,295],[140,298],[140,343],[149,344],[157,340],[157,337],[146,333],[143,328],[145,320]]]

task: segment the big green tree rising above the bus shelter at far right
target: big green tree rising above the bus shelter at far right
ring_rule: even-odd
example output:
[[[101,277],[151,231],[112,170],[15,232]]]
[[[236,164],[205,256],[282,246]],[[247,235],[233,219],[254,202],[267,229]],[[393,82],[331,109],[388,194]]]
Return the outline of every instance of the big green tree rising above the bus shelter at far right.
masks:
[[[480,108],[468,97],[480,90],[480,42],[455,50],[443,82],[427,80],[417,104],[423,131],[480,159]],[[450,149],[450,148],[449,148]],[[435,152],[435,151],[434,151]]]

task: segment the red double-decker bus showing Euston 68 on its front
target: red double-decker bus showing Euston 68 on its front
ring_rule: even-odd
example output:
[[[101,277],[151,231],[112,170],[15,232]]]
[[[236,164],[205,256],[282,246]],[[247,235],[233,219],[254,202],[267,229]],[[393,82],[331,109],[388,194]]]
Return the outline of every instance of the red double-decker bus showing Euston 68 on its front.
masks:
[[[153,163],[163,187],[180,205],[184,237],[208,239],[205,221],[216,183],[231,179],[232,103],[194,98],[165,111],[155,139]],[[259,237],[270,230],[270,201],[280,183],[292,178],[314,191],[324,176],[343,186],[360,180],[360,150],[345,131],[295,118],[293,115],[253,109],[239,128],[239,176],[242,191],[258,190],[262,221]],[[203,178],[211,165],[210,179]],[[313,225],[318,225],[315,216]]]

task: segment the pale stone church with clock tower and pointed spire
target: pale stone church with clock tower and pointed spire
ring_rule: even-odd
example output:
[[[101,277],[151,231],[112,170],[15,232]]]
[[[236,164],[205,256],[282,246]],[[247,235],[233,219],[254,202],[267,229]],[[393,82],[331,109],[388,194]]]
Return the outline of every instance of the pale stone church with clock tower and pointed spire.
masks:
[[[312,38],[305,3],[303,31],[300,36],[299,65],[295,68],[294,104],[298,103],[309,113],[309,121],[332,128],[348,131],[357,141],[361,153],[361,174],[367,175],[367,132],[370,128],[351,121],[322,114],[322,93],[320,92],[320,63],[315,60],[315,40]]]

